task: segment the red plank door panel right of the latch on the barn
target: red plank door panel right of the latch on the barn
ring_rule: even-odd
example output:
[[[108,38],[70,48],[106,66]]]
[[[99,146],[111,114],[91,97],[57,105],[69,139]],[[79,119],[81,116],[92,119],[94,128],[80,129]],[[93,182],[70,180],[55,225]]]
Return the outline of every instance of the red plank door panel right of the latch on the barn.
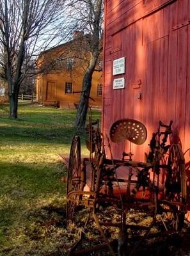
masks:
[[[157,127],[159,120],[168,122],[168,36],[149,42],[146,49],[144,120],[151,130]]]

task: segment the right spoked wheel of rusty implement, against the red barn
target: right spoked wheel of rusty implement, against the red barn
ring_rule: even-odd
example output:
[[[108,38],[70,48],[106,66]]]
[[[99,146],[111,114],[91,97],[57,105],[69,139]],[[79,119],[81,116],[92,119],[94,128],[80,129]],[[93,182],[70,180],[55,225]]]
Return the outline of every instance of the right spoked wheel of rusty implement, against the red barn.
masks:
[[[186,212],[186,170],[184,154],[178,144],[170,147],[165,188],[166,199],[171,202],[172,227],[180,230]]]

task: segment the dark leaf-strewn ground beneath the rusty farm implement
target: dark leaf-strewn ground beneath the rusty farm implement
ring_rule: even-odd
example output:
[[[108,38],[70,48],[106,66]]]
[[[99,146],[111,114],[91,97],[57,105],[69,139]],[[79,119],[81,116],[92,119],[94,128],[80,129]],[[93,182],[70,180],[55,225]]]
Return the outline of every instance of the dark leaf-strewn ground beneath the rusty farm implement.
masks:
[[[113,207],[107,207],[104,211],[100,212],[99,221],[112,221],[113,223],[118,223],[120,221],[120,214]],[[85,223],[85,210],[77,212],[75,214],[75,221],[72,225],[75,225],[76,232],[78,230],[83,230]],[[129,213],[127,214],[127,223],[130,225],[143,225],[148,227],[152,222],[152,217],[145,213]],[[170,220],[164,219],[166,226],[170,228]],[[118,237],[120,236],[120,230],[116,227],[104,227],[104,234],[107,239],[111,242],[113,250],[117,254]],[[184,228],[181,232],[166,232],[166,229],[161,221],[161,217],[157,216],[157,221],[155,225],[151,228],[150,234],[146,239],[142,239],[145,234],[145,230],[128,228],[127,239],[125,241],[125,249],[127,248],[127,255],[131,256],[131,252],[136,244],[139,243],[136,250],[132,253],[133,256],[189,256],[190,255],[190,226],[185,223]],[[76,242],[76,241],[75,241]],[[72,244],[74,246],[75,242]],[[88,221],[88,224],[82,232],[82,239],[79,241],[75,250],[83,250],[84,248],[91,248],[93,246],[99,246],[104,244],[104,239],[102,238],[99,228],[95,225],[93,218]],[[71,254],[72,255],[72,254]],[[83,254],[73,254],[73,255],[83,255]],[[89,252],[88,256],[109,256],[111,252],[109,249],[100,250],[97,252]]]

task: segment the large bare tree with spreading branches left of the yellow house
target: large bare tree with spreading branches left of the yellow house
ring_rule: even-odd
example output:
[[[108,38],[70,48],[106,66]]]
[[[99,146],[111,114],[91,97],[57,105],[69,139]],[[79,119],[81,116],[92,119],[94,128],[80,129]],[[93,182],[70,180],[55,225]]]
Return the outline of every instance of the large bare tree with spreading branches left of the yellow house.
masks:
[[[64,3],[0,0],[0,77],[8,84],[11,118],[17,118],[20,84],[31,62],[35,63],[39,52],[59,44],[58,35],[67,31]]]

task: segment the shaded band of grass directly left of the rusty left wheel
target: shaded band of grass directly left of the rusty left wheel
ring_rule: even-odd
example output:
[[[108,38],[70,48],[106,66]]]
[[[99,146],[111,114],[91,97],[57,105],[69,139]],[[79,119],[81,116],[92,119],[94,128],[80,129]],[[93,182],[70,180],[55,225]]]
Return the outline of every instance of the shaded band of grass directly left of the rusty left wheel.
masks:
[[[54,166],[54,168],[52,168]],[[0,163],[0,195],[16,195],[15,189],[22,190],[20,197],[37,196],[42,193],[62,191],[65,184],[61,182],[61,175],[67,170],[61,161],[45,164],[13,164]],[[31,194],[29,193],[31,192]]]

